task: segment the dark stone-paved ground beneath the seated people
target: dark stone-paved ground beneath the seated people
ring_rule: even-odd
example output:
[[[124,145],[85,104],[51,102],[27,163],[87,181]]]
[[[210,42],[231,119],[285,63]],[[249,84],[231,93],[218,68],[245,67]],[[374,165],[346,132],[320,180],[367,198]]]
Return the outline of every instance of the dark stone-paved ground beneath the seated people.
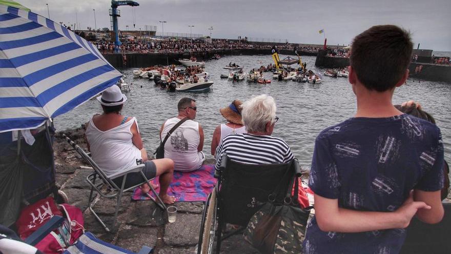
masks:
[[[133,201],[132,193],[125,193],[121,200],[117,225],[108,233],[88,209],[90,185],[86,181],[93,169],[81,159],[62,134],[66,134],[86,150],[84,128],[57,132],[54,142],[56,182],[69,199],[69,204],[83,211],[85,229],[99,239],[138,252],[143,245],[155,247],[156,254],[196,253],[196,244],[202,220],[204,202],[176,202],[177,220],[168,223],[163,212],[152,201]],[[213,164],[209,160],[206,164]],[[95,193],[96,194],[96,193]],[[107,225],[111,225],[116,200],[96,196],[93,206]],[[227,227],[227,230],[231,230]],[[221,253],[258,253],[246,243],[242,235],[223,241]]]

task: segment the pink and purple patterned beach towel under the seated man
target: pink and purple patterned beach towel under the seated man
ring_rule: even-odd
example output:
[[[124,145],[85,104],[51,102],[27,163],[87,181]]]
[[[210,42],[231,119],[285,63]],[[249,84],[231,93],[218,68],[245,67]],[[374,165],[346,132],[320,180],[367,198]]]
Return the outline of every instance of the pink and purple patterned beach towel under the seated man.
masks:
[[[174,171],[172,183],[168,188],[169,196],[174,196],[177,199],[176,201],[206,201],[208,194],[212,192],[217,182],[213,177],[214,172],[214,165],[202,165],[199,169],[191,172]],[[159,186],[158,178],[155,178],[152,183]],[[158,193],[159,187],[155,190]],[[154,197],[152,191],[149,193]],[[150,200],[149,197],[141,193],[140,188],[135,188],[132,199]]]

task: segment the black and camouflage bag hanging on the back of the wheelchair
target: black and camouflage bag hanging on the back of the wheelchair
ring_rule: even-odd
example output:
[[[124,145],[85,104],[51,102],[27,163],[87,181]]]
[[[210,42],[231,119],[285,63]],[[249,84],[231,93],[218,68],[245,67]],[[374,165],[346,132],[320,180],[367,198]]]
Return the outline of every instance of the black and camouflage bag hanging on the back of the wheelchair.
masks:
[[[293,182],[289,185],[283,202],[271,200],[278,193],[268,197],[268,202],[252,216],[244,230],[244,239],[260,253],[302,253],[305,228],[310,216],[310,209],[302,209],[298,203],[299,181],[293,177],[295,189],[292,196]]]

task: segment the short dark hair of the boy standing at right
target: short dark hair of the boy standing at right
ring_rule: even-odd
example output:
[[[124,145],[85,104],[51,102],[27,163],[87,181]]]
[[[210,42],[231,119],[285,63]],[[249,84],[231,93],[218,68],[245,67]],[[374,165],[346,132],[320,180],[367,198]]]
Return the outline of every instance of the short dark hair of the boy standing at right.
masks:
[[[354,38],[351,67],[359,81],[379,92],[396,86],[411,62],[409,32],[394,25],[373,26]]]

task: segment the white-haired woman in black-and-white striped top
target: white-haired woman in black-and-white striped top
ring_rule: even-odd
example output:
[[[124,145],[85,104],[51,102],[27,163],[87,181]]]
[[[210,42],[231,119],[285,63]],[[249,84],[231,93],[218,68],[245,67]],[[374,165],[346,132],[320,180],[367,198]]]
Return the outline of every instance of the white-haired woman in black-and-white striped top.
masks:
[[[274,98],[261,94],[241,106],[242,122],[248,133],[232,133],[222,140],[216,149],[216,169],[219,169],[224,153],[234,161],[248,164],[276,164],[292,160],[293,153],[288,144],[271,136],[279,119]]]

